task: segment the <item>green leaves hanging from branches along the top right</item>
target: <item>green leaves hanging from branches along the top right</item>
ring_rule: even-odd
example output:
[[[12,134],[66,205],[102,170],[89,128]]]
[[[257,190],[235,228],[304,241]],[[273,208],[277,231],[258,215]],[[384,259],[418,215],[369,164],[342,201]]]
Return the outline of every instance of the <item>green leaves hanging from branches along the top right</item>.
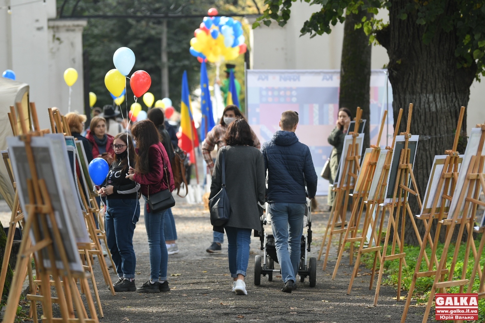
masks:
[[[291,2],[296,0],[265,0],[267,6],[253,28],[259,26],[259,21],[265,25],[271,23],[271,19],[280,26],[286,24],[290,18]],[[309,33],[311,36],[330,33],[331,25],[345,20],[346,12],[356,13],[359,9],[377,14],[380,9],[391,7],[390,0],[305,0],[310,4],[319,5],[308,19],[301,33]],[[450,7],[453,6],[449,14]],[[416,24],[422,26],[422,42],[429,44],[436,32],[452,32],[456,35],[455,56],[457,68],[470,67],[477,64],[476,77],[485,76],[485,0],[415,0],[408,1],[397,12],[397,18],[416,19]],[[371,18],[356,24],[356,28],[364,28],[366,34],[375,35],[387,25],[382,19]],[[376,42],[375,36],[370,37],[371,42]]]

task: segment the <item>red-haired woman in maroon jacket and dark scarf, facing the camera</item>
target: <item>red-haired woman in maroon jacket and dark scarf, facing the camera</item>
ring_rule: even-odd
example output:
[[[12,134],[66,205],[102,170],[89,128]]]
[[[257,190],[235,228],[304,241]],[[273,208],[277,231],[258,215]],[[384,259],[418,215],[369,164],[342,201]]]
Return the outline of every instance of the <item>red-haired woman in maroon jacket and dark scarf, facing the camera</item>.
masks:
[[[93,158],[101,157],[113,164],[113,136],[106,133],[106,119],[103,117],[94,117],[89,123],[89,129],[86,131],[86,139],[93,145]]]

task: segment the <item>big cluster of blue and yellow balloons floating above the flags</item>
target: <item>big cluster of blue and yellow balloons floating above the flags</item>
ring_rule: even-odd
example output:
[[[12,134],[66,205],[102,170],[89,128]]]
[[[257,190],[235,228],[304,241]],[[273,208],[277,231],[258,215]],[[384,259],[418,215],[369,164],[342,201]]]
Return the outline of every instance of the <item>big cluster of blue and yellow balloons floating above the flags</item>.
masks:
[[[232,61],[247,50],[241,21],[217,14],[217,9],[210,8],[209,17],[204,17],[190,40],[190,53],[199,62]]]

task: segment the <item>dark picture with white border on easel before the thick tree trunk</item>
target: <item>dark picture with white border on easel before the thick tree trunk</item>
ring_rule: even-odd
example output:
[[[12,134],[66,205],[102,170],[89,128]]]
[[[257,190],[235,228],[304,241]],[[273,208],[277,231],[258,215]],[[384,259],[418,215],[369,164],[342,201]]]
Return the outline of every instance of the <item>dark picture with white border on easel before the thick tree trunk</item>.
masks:
[[[419,137],[420,136],[418,135],[413,135],[408,140],[407,148],[410,150],[409,163],[412,166],[414,166],[414,158],[416,157],[416,149],[418,148]],[[394,186],[396,185],[396,177],[399,169],[399,159],[401,157],[401,150],[404,149],[404,144],[404,136],[396,136],[396,141],[394,142],[393,147],[394,149],[392,150],[392,159],[389,168],[384,204],[391,203],[393,198],[395,198],[392,195],[394,194]],[[407,183],[408,186],[410,182],[411,179],[409,179],[409,182]],[[406,194],[408,193],[409,192],[406,191]]]

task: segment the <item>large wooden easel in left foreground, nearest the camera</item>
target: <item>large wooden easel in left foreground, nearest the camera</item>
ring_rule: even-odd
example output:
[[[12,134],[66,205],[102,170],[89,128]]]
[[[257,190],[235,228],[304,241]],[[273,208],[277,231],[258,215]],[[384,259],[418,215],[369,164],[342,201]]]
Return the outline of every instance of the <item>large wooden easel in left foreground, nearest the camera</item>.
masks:
[[[28,179],[26,183],[30,203],[26,205],[25,212],[27,213],[27,221],[24,227],[25,234],[23,235],[20,250],[17,256],[15,275],[9,292],[3,323],[13,323],[15,321],[23,279],[28,267],[30,266],[32,254],[37,255],[34,256],[37,269],[37,278],[40,277],[39,285],[41,286],[41,291],[44,290],[44,292],[41,293],[41,295],[29,294],[27,295],[27,299],[42,303],[43,317],[46,322],[51,323],[62,321],[98,323],[90,292],[87,292],[85,295],[93,319],[87,319],[87,313],[74,279],[79,279],[81,281],[81,286],[83,286],[85,290],[89,291],[89,285],[84,272],[74,272],[69,267],[68,257],[64,248],[61,233],[58,228],[57,219],[54,215],[54,210],[50,202],[46,183],[43,179],[39,179],[37,175],[35,158],[32,153],[31,140],[32,137],[42,136],[43,132],[36,131],[29,133],[24,123],[22,110],[18,109],[18,113],[23,132],[21,140],[25,142],[25,151],[31,172],[31,178]],[[50,226],[49,223],[51,224]],[[49,229],[52,231],[52,234]],[[33,234],[35,238],[34,245],[32,245],[32,240],[30,239],[31,234]],[[57,268],[54,246],[56,246],[61,257],[63,269]],[[48,258],[50,261],[50,268],[47,268],[44,265],[43,250],[47,251],[49,255]],[[51,275],[53,278],[52,283],[55,287],[57,297],[51,296],[51,280],[49,275]],[[63,277],[63,281],[61,281],[61,277]],[[74,316],[72,301],[74,301],[74,305],[77,309],[78,318],[75,318]],[[59,304],[61,318],[53,317],[52,303]],[[37,321],[36,316],[34,316],[34,321]]]

